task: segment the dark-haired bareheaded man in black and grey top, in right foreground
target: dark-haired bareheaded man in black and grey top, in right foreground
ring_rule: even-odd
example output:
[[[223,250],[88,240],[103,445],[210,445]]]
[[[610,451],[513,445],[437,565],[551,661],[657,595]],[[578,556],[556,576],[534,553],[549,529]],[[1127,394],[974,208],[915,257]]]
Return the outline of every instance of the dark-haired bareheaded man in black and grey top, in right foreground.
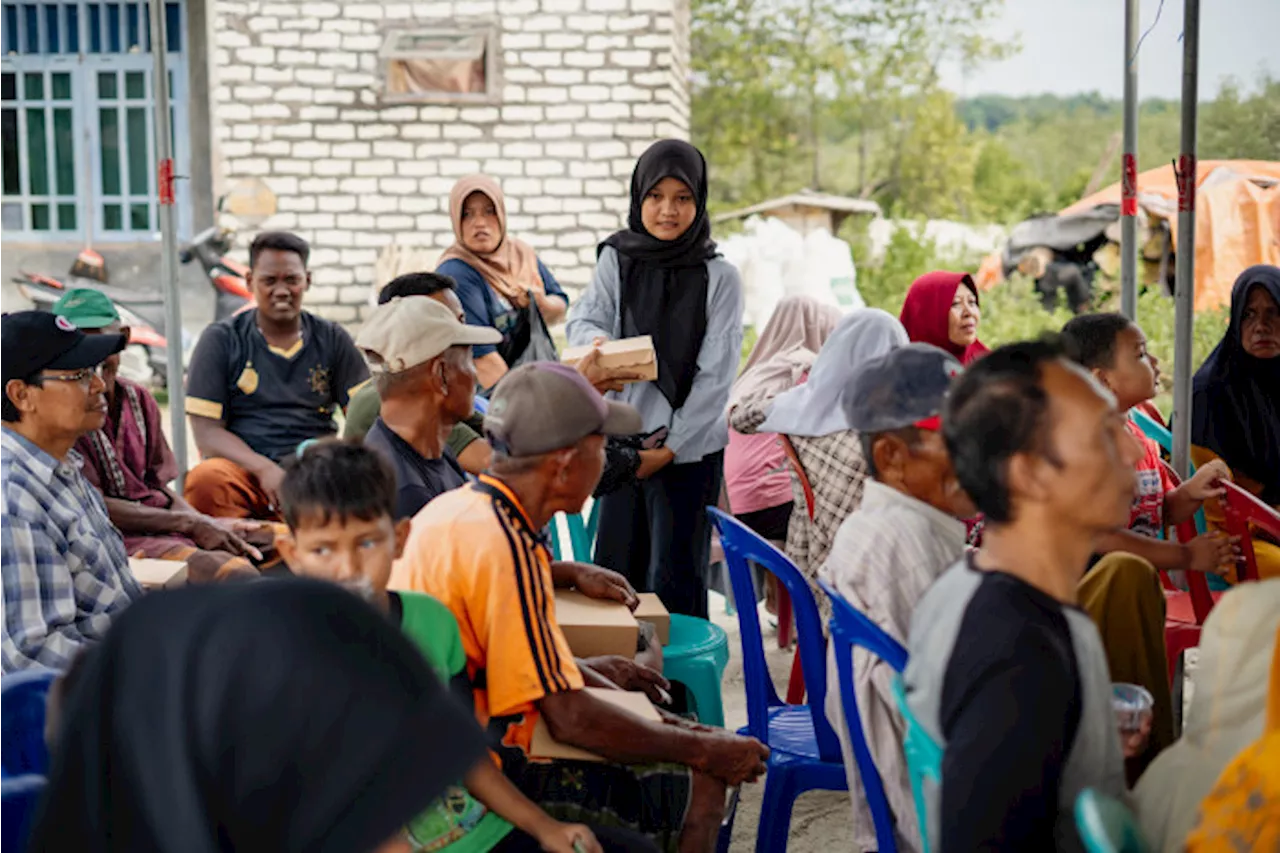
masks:
[[[1076,795],[1123,797],[1121,756],[1151,730],[1121,744],[1076,593],[1096,538],[1128,524],[1140,447],[1115,398],[1048,341],[970,366],[942,428],[987,528],[911,617],[908,704],[943,748],[941,785],[925,789],[931,847],[1082,850]]]

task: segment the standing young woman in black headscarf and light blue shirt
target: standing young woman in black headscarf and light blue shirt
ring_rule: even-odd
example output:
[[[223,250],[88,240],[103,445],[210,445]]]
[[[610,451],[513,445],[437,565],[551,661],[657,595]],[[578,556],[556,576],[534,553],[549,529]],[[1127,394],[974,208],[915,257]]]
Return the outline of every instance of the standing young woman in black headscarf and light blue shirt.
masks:
[[[600,245],[595,277],[570,311],[573,346],[652,336],[658,379],[617,394],[645,430],[640,482],[602,498],[595,560],[677,613],[707,616],[710,526],[728,444],[724,407],[742,348],[742,284],[716,251],[707,163],[687,142],[649,147],[631,175],[627,228]]]

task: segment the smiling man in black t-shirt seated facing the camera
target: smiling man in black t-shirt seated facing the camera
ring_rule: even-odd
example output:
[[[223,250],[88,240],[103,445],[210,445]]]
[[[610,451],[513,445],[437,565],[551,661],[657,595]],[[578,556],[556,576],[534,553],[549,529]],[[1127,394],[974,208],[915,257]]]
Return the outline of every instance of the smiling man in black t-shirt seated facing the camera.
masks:
[[[205,459],[184,497],[220,517],[278,519],[280,460],[337,432],[333,414],[369,379],[351,336],[302,310],[311,248],[266,232],[250,247],[257,306],[205,329],[187,371],[187,415]]]

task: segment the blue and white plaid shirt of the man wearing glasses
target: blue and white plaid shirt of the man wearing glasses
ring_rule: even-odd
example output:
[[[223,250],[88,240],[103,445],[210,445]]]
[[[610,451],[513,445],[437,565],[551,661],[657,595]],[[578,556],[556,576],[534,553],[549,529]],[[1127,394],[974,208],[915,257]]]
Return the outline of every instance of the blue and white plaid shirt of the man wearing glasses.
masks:
[[[142,589],[106,503],[79,473],[0,428],[0,674],[65,669]]]

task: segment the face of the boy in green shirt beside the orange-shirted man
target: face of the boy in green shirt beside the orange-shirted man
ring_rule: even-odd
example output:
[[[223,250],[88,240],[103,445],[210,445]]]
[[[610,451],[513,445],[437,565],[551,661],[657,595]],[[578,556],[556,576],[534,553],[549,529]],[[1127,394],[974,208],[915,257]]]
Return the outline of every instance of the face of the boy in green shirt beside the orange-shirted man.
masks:
[[[280,556],[302,578],[328,580],[356,592],[381,596],[408,537],[410,521],[389,516],[372,520],[303,515],[289,534],[276,539]]]

